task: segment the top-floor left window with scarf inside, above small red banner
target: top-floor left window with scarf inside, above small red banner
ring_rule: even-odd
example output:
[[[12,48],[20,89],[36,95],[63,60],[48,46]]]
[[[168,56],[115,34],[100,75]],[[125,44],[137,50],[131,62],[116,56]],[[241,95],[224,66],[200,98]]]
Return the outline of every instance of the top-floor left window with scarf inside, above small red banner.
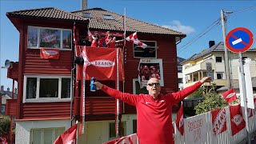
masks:
[[[47,47],[71,50],[71,35],[72,30],[29,26],[27,46],[29,48]]]

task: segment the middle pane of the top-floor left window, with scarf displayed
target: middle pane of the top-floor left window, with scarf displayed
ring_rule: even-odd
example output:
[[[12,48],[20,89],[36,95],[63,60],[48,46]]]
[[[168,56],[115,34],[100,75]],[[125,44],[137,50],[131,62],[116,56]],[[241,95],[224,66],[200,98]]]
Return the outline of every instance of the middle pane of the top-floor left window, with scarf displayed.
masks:
[[[60,48],[61,30],[40,29],[40,47]]]

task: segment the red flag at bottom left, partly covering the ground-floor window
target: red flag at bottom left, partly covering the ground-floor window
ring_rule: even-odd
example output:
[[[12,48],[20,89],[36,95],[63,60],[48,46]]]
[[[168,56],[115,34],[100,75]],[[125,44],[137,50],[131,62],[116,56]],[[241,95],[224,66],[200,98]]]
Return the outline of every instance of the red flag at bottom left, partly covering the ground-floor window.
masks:
[[[58,138],[55,140],[54,144],[75,144],[76,135],[77,135],[77,126],[71,126],[70,129],[64,131]]]

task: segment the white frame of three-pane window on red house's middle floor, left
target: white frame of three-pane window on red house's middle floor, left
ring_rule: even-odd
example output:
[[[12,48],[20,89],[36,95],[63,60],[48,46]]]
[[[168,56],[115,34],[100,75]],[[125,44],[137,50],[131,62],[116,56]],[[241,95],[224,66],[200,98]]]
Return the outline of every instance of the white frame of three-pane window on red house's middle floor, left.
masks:
[[[26,98],[27,78],[37,78],[36,98]],[[39,98],[40,78],[58,78],[58,98]],[[62,97],[62,78],[70,78],[70,98]],[[48,76],[48,75],[24,75],[23,103],[25,102],[70,102],[72,92],[72,81],[70,76]]]

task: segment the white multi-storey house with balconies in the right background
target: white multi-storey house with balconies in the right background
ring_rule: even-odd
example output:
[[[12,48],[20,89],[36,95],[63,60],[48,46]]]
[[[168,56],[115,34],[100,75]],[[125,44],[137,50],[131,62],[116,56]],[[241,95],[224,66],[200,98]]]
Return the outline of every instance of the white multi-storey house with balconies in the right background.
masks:
[[[243,58],[250,58],[251,77],[256,76],[256,49],[247,50],[242,54]],[[230,78],[231,82],[238,82],[238,54],[229,53],[230,57]],[[224,43],[214,41],[209,42],[209,48],[199,54],[194,54],[182,63],[184,87],[191,86],[203,77],[211,75],[216,83],[217,89],[227,86]]]

